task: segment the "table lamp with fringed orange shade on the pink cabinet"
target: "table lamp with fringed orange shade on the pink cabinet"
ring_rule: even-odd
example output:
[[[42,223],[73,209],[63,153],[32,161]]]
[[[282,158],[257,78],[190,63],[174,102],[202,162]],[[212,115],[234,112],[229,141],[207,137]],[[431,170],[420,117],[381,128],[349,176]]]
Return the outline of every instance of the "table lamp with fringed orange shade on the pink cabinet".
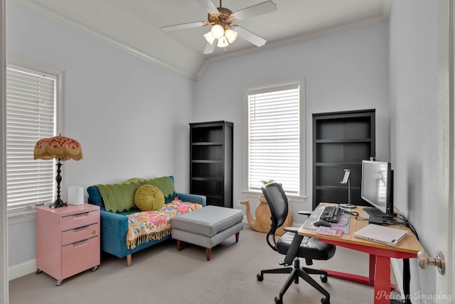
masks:
[[[40,139],[33,150],[33,157],[35,159],[58,159],[57,163],[57,176],[55,181],[57,182],[57,200],[49,205],[49,207],[58,208],[68,206],[62,200],[60,200],[60,182],[62,176],[60,173],[60,167],[62,163],[60,161],[67,161],[68,159],[74,159],[79,161],[82,159],[82,148],[80,143],[75,139],[68,139],[65,136],[54,136],[49,139]]]

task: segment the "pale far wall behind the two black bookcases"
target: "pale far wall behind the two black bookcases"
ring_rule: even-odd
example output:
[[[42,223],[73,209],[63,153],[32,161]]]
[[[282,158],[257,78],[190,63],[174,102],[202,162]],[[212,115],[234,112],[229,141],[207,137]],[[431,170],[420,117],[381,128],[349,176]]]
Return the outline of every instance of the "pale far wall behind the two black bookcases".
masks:
[[[229,52],[229,48],[228,48]],[[311,210],[312,113],[376,109],[376,156],[389,161],[387,24],[327,36],[253,55],[212,63],[196,82],[195,121],[234,123],[234,201],[245,200],[243,183],[243,89],[306,79],[306,196],[294,213]],[[252,197],[250,197],[252,198]],[[255,210],[257,200],[250,200]],[[240,205],[245,210],[244,205]],[[294,215],[294,222],[304,217]]]

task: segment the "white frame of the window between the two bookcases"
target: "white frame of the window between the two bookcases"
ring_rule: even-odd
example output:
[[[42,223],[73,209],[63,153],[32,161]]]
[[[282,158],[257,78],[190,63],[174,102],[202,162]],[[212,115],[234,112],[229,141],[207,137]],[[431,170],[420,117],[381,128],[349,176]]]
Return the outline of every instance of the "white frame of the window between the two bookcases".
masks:
[[[272,82],[264,85],[255,85],[251,87],[245,87],[243,90],[243,99],[244,99],[244,177],[243,177],[243,194],[245,196],[249,195],[262,195],[260,190],[250,189],[249,188],[249,154],[250,154],[250,139],[249,139],[249,113],[248,113],[248,96],[250,94],[260,94],[265,92],[280,91],[283,89],[290,89],[299,87],[299,193],[289,193],[289,198],[296,202],[303,202],[306,199],[306,111],[305,111],[305,78],[299,78],[295,80],[287,80],[282,82]]]

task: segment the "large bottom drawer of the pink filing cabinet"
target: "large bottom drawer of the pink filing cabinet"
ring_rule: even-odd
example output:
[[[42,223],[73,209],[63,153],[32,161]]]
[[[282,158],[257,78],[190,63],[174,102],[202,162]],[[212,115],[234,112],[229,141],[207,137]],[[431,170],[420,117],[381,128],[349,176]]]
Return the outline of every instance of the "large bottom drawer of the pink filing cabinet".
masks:
[[[100,237],[92,237],[62,247],[62,277],[100,265]]]

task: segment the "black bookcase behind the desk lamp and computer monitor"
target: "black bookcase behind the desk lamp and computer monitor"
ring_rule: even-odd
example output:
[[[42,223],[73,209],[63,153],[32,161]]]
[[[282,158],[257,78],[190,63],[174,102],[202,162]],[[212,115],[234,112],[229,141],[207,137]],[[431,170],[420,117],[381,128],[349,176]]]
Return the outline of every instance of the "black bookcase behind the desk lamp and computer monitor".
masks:
[[[375,109],[313,114],[313,209],[320,202],[348,203],[341,184],[350,169],[351,202],[360,197],[362,161],[375,157]]]

